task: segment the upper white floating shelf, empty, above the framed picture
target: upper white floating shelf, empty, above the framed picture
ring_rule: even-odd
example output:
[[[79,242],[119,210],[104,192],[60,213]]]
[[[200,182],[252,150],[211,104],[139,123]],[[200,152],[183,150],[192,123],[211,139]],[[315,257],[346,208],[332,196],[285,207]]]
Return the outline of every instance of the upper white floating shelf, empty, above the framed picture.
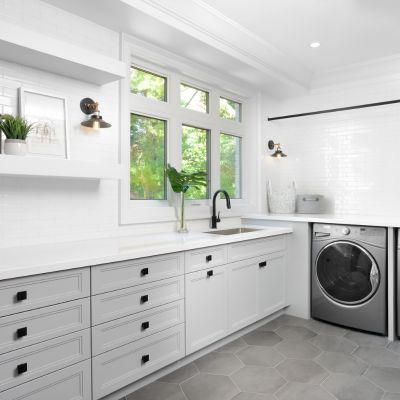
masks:
[[[122,61],[4,21],[0,58],[97,85],[126,76]]]

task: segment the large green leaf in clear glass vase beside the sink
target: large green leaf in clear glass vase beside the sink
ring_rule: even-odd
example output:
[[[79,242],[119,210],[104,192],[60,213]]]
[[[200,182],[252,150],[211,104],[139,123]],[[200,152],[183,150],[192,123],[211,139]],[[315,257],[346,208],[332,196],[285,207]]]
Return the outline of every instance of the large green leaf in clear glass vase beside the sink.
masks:
[[[171,184],[171,188],[175,193],[181,194],[181,213],[178,232],[188,232],[185,224],[185,193],[191,188],[199,188],[200,186],[207,186],[207,174],[205,172],[188,173],[185,171],[178,172],[170,164],[165,168],[165,172]]]

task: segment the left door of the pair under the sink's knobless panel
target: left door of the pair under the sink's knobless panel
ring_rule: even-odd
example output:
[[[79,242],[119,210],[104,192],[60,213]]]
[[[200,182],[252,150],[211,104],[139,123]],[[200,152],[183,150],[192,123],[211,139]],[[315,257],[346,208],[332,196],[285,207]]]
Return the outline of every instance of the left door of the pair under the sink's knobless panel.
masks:
[[[238,261],[228,267],[228,323],[231,333],[258,319],[258,259]]]

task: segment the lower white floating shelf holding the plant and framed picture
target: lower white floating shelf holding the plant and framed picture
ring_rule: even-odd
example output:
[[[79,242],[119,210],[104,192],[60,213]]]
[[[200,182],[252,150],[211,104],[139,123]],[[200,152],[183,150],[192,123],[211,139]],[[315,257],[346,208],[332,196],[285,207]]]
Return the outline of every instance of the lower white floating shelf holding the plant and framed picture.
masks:
[[[72,179],[121,179],[121,164],[0,155],[0,176],[42,176]]]

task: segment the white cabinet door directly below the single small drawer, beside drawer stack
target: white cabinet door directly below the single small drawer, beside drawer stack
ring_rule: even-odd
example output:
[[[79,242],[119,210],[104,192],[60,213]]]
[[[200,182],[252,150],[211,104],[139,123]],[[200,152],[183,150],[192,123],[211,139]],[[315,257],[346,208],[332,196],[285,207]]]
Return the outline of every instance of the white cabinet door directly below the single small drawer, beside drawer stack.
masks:
[[[186,354],[228,334],[227,266],[185,276]]]

